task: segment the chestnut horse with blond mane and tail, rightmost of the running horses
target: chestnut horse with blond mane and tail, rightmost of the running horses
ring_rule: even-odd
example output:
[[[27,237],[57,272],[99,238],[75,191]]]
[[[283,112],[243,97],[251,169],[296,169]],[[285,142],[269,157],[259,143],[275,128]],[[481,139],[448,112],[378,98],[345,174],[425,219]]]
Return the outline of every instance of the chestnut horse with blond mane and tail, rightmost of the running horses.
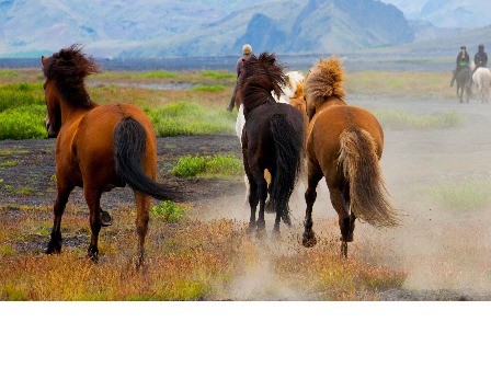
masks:
[[[339,215],[341,254],[347,257],[355,220],[375,227],[399,225],[398,212],[387,199],[378,163],[384,149],[384,131],[377,119],[365,110],[344,102],[344,70],[332,56],[320,59],[304,83],[306,100],[306,154],[308,188],[304,245],[316,243],[312,208],[317,185],[322,177],[331,203]],[[351,214],[350,214],[351,210]]]

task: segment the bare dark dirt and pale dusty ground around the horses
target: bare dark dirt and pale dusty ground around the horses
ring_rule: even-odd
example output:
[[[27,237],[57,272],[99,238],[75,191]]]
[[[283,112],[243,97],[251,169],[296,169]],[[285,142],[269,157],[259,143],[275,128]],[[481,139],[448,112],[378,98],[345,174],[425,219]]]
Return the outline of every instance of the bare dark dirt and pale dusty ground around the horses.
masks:
[[[491,173],[491,104],[459,104],[457,99],[389,97],[352,95],[347,103],[366,108],[397,110],[413,114],[436,114],[457,110],[467,125],[457,128],[386,131],[380,161],[392,204],[404,214],[404,223],[397,229],[377,230],[358,223],[355,242],[350,245],[357,256],[379,265],[402,267],[408,278],[402,289],[382,290],[386,301],[491,300],[491,209],[461,212],[434,204],[424,193],[438,180],[456,182],[477,175],[489,179]],[[5,140],[0,142],[0,200],[15,211],[16,206],[53,206],[56,198],[55,140]],[[9,151],[11,154],[5,154]],[[180,157],[187,154],[230,154],[241,158],[236,136],[172,137],[158,139],[159,181],[169,181],[187,192],[186,200],[195,205],[196,216],[247,220],[244,185],[238,180],[175,179],[165,172]],[[164,172],[160,172],[163,170]],[[8,188],[10,185],[10,189]],[[31,194],[12,193],[32,188]],[[305,215],[299,183],[292,198],[295,226],[301,230]],[[103,197],[103,207],[114,209],[133,203],[129,188],[113,191]],[[77,188],[71,203],[84,205]],[[9,211],[8,210],[8,211]],[[47,214],[50,216],[50,214]],[[316,218],[335,214],[323,182],[313,209]],[[271,230],[273,217],[267,215]],[[36,246],[39,242],[34,241]],[[33,244],[34,245],[34,244]]]

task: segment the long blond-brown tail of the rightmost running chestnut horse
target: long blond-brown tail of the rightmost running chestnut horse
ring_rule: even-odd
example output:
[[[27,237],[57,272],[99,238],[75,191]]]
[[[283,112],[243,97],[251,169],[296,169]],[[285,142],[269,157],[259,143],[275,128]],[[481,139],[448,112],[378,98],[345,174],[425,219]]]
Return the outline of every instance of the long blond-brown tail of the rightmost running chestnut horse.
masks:
[[[374,137],[364,129],[351,127],[341,134],[340,143],[338,163],[350,183],[353,214],[378,228],[399,226],[399,214],[387,198]]]

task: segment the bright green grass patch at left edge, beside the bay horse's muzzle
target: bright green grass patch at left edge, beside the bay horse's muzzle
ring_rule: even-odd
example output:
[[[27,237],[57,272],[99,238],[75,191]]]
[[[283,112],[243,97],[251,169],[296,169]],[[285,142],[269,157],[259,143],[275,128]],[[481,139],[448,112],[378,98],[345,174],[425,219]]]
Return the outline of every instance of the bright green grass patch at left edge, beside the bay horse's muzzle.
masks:
[[[43,123],[45,117],[45,105],[20,106],[0,112],[0,140],[47,138]]]

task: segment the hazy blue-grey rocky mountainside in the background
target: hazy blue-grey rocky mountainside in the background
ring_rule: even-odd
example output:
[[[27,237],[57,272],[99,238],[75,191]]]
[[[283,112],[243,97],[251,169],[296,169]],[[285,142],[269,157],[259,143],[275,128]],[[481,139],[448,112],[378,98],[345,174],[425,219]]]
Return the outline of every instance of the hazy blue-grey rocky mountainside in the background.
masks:
[[[376,0],[0,0],[0,56],[75,42],[98,57],[331,53],[414,41],[402,12]]]

